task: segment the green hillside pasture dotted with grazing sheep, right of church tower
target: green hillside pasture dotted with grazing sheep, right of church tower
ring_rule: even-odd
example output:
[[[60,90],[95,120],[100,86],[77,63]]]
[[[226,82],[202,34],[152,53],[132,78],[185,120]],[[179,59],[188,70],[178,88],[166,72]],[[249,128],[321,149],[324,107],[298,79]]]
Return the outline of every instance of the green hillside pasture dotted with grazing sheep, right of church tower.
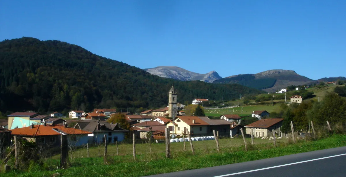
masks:
[[[242,109],[243,109],[243,114],[242,114]],[[238,115],[251,115],[253,111],[260,111],[260,110],[266,110],[269,113],[278,111],[279,110],[279,105],[271,105],[271,104],[266,104],[266,105],[249,105],[249,106],[242,106],[242,107],[236,107],[236,108],[220,108],[220,109],[211,109],[211,110],[204,110],[206,113],[206,116],[213,116],[213,117],[218,117],[221,114],[238,114]]]

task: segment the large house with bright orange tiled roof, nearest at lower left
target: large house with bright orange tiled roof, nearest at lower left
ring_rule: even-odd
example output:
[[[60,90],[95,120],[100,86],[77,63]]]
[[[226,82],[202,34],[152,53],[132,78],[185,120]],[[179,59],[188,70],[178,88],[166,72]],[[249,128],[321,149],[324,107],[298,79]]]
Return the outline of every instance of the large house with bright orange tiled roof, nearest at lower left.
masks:
[[[60,136],[67,134],[67,139],[70,144],[74,146],[82,146],[88,143],[88,134],[90,132],[78,130],[74,128],[67,128],[64,125],[34,125],[28,127],[16,128],[11,130],[12,136],[33,139],[37,145],[45,147],[60,147]]]

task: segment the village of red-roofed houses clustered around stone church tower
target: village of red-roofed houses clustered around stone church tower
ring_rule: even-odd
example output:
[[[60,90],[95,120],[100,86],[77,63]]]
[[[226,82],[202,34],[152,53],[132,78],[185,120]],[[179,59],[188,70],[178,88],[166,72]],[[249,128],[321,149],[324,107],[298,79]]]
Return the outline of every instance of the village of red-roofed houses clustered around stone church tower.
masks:
[[[34,141],[37,145],[46,148],[59,147],[60,135],[66,134],[69,141],[76,147],[85,144],[118,143],[126,138],[148,139],[153,138],[156,142],[165,139],[165,129],[169,129],[171,142],[181,142],[182,137],[191,134],[192,141],[206,140],[206,137],[214,138],[213,131],[218,136],[239,136],[240,129],[254,137],[272,137],[273,131],[280,137],[283,119],[270,118],[270,113],[265,110],[255,110],[252,117],[258,121],[240,125],[242,117],[238,114],[222,114],[219,119],[209,119],[206,116],[185,115],[184,105],[177,102],[178,94],[172,86],[168,92],[168,106],[156,110],[146,110],[138,115],[129,112],[117,112],[116,109],[95,109],[93,112],[72,110],[69,119],[64,120],[63,114],[53,112],[49,115],[41,115],[36,112],[15,112],[8,115],[8,121],[2,121],[1,133],[8,133],[7,143],[10,145],[13,136]],[[294,95],[290,97],[291,103],[301,103],[302,97]],[[208,99],[194,99],[193,105],[200,105]],[[124,115],[130,124],[129,129],[119,126],[119,123],[109,123],[107,120],[116,114]],[[68,125],[73,123],[73,126]],[[128,136],[130,135],[130,136]],[[197,137],[197,138],[196,138]],[[189,139],[186,139],[189,141]]]

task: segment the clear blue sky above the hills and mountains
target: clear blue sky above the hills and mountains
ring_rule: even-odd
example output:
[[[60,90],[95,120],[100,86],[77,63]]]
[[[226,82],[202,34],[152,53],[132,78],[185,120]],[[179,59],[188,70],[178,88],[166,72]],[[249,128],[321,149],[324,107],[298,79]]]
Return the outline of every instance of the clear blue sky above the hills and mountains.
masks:
[[[346,76],[346,1],[0,1],[0,41],[61,40],[139,68]]]

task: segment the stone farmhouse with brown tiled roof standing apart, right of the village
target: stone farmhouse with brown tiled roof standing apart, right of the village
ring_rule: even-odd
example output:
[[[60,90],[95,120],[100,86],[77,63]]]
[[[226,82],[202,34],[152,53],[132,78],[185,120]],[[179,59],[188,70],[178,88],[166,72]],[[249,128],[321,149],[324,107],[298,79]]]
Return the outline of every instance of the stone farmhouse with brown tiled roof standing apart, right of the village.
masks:
[[[251,135],[251,128],[255,137],[268,137],[272,135],[272,131],[280,132],[283,119],[261,119],[245,126],[246,134]]]

